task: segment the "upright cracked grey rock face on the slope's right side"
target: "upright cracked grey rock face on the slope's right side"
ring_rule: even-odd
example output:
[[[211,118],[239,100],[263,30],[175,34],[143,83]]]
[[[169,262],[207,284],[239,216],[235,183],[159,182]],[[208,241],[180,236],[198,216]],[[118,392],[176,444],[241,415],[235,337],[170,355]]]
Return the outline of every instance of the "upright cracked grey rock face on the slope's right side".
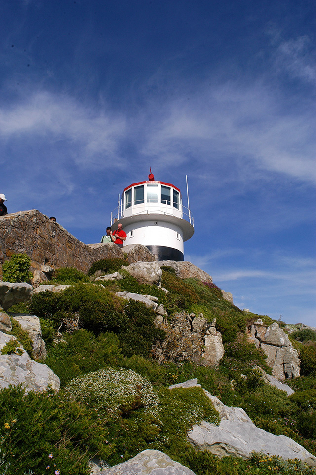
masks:
[[[288,336],[279,325],[264,325],[259,318],[247,329],[248,339],[254,342],[267,355],[267,365],[272,375],[280,381],[300,375],[300,360]]]

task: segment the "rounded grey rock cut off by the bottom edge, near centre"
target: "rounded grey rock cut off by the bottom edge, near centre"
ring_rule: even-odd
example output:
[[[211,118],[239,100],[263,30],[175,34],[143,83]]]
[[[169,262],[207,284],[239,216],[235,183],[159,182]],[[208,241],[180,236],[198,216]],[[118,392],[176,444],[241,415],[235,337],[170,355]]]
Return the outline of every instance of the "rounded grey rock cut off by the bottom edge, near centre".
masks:
[[[136,457],[99,472],[99,475],[196,475],[159,450],[144,450]]]

